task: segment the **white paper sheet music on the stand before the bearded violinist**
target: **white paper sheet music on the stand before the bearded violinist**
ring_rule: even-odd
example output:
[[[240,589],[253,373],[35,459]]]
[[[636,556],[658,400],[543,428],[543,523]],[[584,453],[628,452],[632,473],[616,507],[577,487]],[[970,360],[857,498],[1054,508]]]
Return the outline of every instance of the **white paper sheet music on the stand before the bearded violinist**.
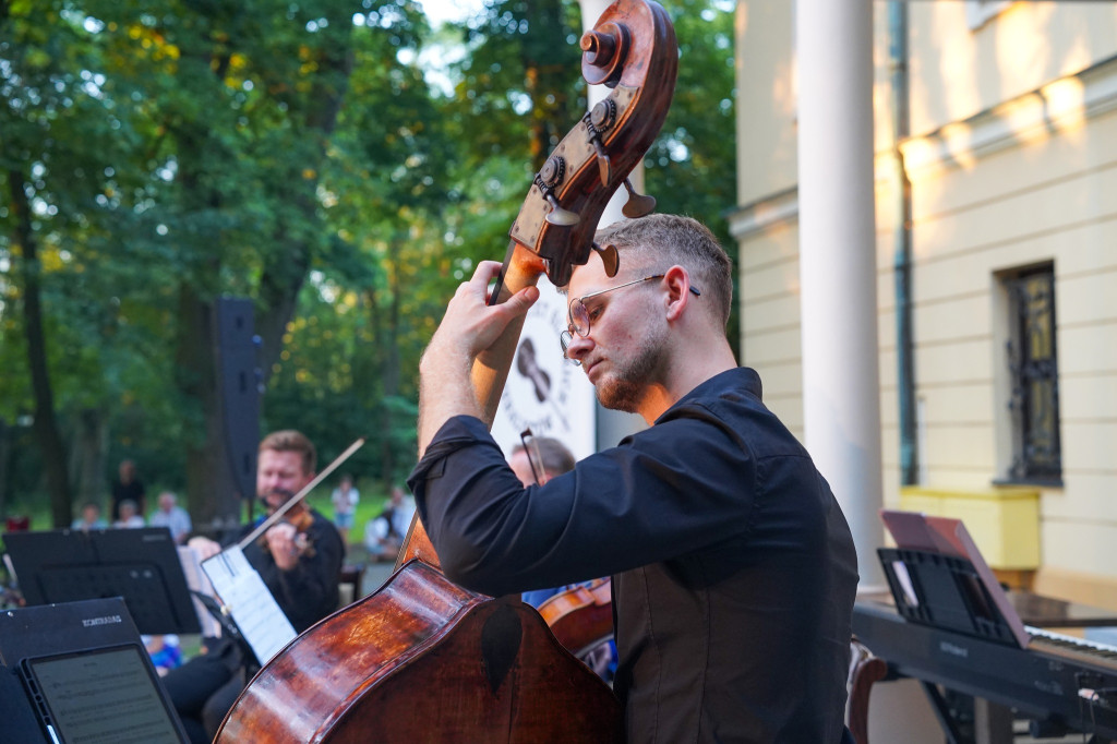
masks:
[[[298,635],[240,547],[233,545],[207,559],[202,571],[261,665]]]

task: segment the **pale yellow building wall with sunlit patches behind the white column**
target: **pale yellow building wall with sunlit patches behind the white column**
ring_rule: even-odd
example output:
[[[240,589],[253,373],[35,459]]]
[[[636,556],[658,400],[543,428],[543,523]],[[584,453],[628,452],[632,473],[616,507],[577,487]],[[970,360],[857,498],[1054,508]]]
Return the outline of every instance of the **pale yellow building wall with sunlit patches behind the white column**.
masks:
[[[907,3],[920,485],[989,490],[1012,457],[1001,273],[1053,261],[1061,487],[1039,488],[1035,588],[1117,608],[1117,3]],[[738,2],[743,362],[802,438],[792,3]],[[886,3],[875,8],[885,504],[898,507]],[[775,216],[775,217],[772,217]]]

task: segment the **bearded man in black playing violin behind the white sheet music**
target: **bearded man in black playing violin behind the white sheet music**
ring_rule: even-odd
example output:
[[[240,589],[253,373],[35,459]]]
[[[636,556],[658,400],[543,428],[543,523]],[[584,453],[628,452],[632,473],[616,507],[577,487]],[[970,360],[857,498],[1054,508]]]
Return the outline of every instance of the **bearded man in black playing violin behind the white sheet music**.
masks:
[[[256,467],[256,493],[267,513],[278,509],[311,483],[316,467],[314,445],[298,431],[275,431],[265,437]],[[251,532],[252,526],[246,526],[230,544]],[[193,537],[188,544],[200,560],[221,551],[221,545],[207,537]],[[293,507],[287,521],[274,525],[259,541],[246,546],[245,557],[260,574],[296,632],[303,632],[337,609],[337,580],[345,549],[333,523],[305,504]],[[221,721],[254,673],[248,655],[238,643],[228,638],[208,638],[201,656],[163,677],[192,743],[213,741]]]

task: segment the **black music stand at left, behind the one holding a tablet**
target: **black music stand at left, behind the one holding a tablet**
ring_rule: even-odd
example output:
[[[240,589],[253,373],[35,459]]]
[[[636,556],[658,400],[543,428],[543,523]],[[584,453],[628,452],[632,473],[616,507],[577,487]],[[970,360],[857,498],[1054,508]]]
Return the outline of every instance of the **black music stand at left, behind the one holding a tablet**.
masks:
[[[28,604],[122,597],[142,633],[199,633],[166,527],[12,532],[3,536]]]

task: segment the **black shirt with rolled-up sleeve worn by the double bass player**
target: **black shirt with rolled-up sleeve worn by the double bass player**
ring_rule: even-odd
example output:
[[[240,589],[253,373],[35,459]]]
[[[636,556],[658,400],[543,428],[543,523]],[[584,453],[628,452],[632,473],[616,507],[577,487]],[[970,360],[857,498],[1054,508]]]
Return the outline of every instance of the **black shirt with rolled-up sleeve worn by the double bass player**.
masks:
[[[477,419],[411,474],[447,575],[506,594],[613,574],[631,742],[839,742],[857,556],[802,445],[739,368],[524,488]]]

